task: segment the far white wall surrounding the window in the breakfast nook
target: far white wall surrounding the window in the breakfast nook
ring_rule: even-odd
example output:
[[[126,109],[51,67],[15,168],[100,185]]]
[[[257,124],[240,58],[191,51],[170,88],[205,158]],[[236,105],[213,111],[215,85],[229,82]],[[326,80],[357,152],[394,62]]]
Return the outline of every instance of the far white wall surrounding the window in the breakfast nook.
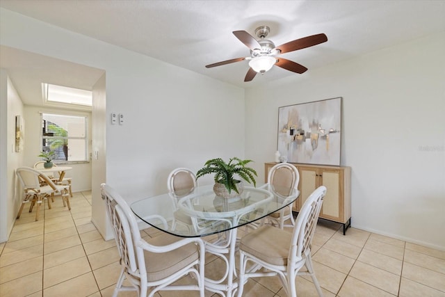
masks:
[[[37,161],[42,161],[38,157],[42,150],[41,141],[41,115],[40,113],[58,113],[66,115],[82,115],[87,116],[91,122],[91,113],[86,111],[66,111],[63,109],[50,109],[38,106],[24,106],[24,118],[29,124],[26,126],[24,162],[22,166],[33,167]],[[88,126],[88,134],[91,135],[91,125]],[[91,145],[88,145],[91,152]],[[65,173],[66,177],[72,177],[72,191],[89,191],[91,189],[91,163],[70,163],[67,166],[72,167]]]

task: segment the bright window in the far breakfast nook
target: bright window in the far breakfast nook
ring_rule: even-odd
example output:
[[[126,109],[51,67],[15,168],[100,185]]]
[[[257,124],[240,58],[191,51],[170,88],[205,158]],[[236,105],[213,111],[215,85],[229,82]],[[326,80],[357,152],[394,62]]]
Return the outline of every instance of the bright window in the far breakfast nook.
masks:
[[[88,118],[42,113],[42,151],[56,152],[54,161],[87,161]]]

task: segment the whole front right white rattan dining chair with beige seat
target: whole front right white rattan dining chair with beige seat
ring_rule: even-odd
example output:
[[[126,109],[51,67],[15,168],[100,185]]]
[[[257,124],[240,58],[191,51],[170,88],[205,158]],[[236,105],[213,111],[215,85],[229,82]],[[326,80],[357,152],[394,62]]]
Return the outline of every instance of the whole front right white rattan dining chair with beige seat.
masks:
[[[293,232],[271,225],[263,225],[243,236],[239,243],[239,288],[243,294],[248,278],[278,275],[283,289],[289,297],[296,297],[297,275],[310,275],[319,296],[323,296],[314,273],[311,243],[320,214],[326,187],[320,186],[309,195],[297,216]],[[252,265],[248,268],[248,262]],[[307,271],[300,271],[305,266]]]

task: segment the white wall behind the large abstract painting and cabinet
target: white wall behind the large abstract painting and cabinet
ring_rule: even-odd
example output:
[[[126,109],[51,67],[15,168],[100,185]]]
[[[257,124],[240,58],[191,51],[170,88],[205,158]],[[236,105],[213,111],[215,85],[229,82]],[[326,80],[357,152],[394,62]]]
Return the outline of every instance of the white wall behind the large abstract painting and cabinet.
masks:
[[[444,53],[442,33],[246,90],[245,154],[263,173],[278,107],[343,97],[353,227],[445,250]]]

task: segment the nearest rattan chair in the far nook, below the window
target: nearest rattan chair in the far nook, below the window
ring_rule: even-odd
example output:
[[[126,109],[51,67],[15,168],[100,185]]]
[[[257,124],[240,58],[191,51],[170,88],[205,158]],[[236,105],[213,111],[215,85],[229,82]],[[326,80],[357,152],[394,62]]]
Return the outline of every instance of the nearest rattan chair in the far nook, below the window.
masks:
[[[62,195],[63,206],[68,206],[71,210],[70,198],[68,197],[68,186],[54,184],[54,182],[44,175],[42,172],[35,170],[31,167],[20,167],[15,170],[17,177],[19,178],[20,184],[22,185],[24,191],[24,198],[22,200],[22,205],[20,206],[17,218],[20,218],[24,208],[24,204],[31,202],[29,207],[29,212],[33,210],[36,205],[35,210],[35,220],[39,219],[40,204],[47,200],[48,208],[51,209],[51,202],[47,198],[54,198],[55,193],[60,193]],[[42,183],[43,182],[43,183]]]

